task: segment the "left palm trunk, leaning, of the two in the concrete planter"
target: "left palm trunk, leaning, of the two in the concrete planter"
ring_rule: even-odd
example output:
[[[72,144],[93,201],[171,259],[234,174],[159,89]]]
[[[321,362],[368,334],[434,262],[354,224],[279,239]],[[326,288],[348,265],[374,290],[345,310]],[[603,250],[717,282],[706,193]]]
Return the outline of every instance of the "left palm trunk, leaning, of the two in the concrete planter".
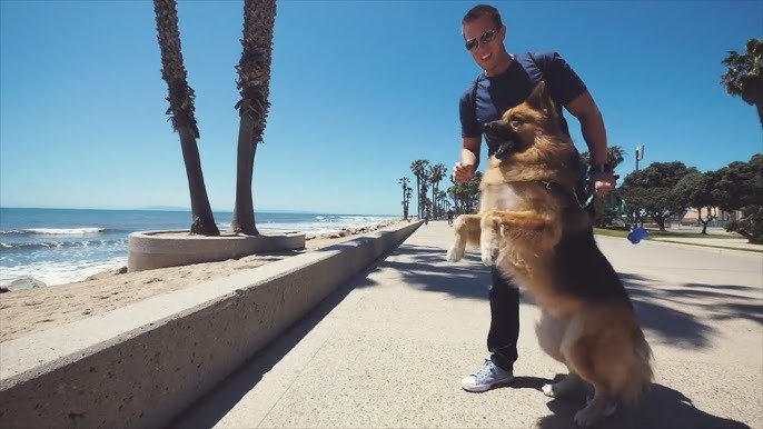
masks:
[[[215,223],[204,183],[199,148],[196,144],[199,128],[194,116],[195,94],[194,89],[188,84],[186,67],[182,63],[175,0],[153,0],[153,10],[157,16],[157,37],[161,50],[161,78],[169,88],[167,114],[170,114],[172,128],[180,136],[182,161],[186,164],[190,190],[192,219],[190,231],[204,236],[219,236],[220,231]]]

